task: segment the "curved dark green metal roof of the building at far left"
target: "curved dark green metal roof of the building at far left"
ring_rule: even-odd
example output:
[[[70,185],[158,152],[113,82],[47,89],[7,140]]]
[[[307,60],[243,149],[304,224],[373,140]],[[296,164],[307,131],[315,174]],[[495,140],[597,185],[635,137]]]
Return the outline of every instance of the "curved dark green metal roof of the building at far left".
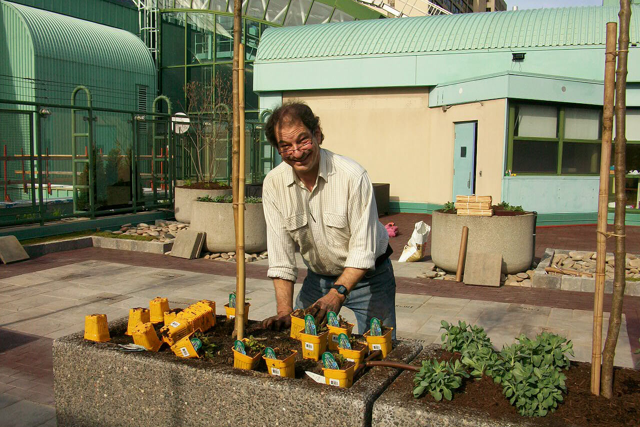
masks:
[[[129,31],[5,3],[17,11],[28,27],[35,56],[155,75],[147,47]]]

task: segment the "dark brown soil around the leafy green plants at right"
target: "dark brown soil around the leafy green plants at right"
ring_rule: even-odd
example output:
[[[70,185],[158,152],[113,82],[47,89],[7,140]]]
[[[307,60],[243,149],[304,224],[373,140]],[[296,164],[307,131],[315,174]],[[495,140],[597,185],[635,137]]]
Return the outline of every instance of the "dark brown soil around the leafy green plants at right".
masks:
[[[436,351],[438,360],[459,358],[446,351]],[[414,363],[417,364],[417,363]],[[640,371],[634,369],[616,369],[614,373],[613,398],[591,394],[591,364],[572,362],[566,375],[567,393],[564,403],[559,404],[556,412],[546,417],[526,418],[536,425],[561,427],[567,425],[589,427],[637,427],[640,426]],[[410,376],[412,378],[413,376]],[[413,381],[396,381],[392,386],[401,390],[405,401],[414,401]],[[466,409],[470,413],[481,413],[497,421],[523,421],[515,406],[511,406],[502,394],[502,386],[487,376],[481,380],[469,378],[461,389],[456,390],[451,401],[436,402],[430,394],[418,401],[435,410]]]

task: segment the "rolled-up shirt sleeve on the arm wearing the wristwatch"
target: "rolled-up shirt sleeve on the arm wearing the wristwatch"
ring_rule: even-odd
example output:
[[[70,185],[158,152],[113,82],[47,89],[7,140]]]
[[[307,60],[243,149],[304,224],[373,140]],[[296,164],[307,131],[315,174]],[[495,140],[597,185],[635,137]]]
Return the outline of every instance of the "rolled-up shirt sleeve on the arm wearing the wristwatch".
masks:
[[[375,269],[378,209],[367,172],[363,172],[349,190],[348,218],[351,239],[349,239],[349,255],[344,266]]]

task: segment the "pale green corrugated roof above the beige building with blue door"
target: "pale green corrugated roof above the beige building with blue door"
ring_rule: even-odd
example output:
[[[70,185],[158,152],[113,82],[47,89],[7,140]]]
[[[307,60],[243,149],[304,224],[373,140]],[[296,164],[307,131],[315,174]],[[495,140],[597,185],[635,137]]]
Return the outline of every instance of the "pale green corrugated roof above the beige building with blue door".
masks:
[[[604,45],[614,7],[459,13],[268,29],[257,62],[474,49]],[[631,42],[638,42],[640,6],[632,6]]]

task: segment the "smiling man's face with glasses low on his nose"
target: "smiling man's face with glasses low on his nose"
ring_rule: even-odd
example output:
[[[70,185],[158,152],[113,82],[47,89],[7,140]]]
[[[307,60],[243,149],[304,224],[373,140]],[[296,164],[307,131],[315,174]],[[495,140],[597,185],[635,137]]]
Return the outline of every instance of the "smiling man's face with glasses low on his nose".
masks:
[[[278,151],[282,161],[293,168],[298,176],[317,174],[320,164],[321,130],[314,133],[299,119],[285,119],[275,127]]]

